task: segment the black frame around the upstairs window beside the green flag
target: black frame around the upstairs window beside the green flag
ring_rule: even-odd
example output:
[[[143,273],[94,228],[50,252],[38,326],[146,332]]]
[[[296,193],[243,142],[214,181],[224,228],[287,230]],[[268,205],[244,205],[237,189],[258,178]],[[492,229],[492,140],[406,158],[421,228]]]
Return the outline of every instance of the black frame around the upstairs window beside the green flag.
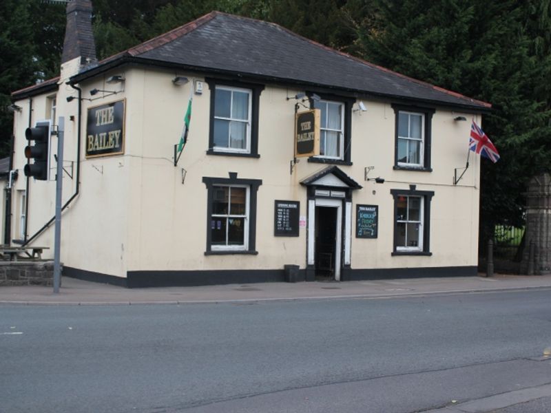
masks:
[[[205,78],[205,83],[209,85],[211,95],[209,114],[209,148],[207,149],[207,154],[260,158],[260,155],[258,154],[258,113],[260,109],[260,94],[262,93],[262,90],[264,90],[264,85],[259,83],[245,83],[217,78]],[[238,87],[240,89],[251,90],[251,151],[248,153],[214,150],[214,105],[216,101],[216,86]]]

